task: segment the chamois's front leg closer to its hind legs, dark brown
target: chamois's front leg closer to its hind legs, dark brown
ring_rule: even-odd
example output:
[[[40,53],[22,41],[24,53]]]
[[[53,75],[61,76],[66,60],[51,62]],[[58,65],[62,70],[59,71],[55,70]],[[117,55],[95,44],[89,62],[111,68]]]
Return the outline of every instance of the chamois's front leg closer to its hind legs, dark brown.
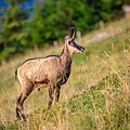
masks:
[[[54,90],[55,90],[55,87],[50,87],[49,88],[49,103],[48,103],[48,109],[50,109],[51,108],[51,106],[52,106],[52,103],[53,103],[53,101],[54,101]]]

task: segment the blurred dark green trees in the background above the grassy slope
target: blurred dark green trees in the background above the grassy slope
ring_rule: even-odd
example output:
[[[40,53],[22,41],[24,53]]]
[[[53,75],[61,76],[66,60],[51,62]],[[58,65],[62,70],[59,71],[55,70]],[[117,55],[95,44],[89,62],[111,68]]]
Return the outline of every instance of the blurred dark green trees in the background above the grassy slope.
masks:
[[[1,0],[2,3],[0,64],[29,49],[52,46],[72,26],[86,34],[118,20],[130,0]]]

